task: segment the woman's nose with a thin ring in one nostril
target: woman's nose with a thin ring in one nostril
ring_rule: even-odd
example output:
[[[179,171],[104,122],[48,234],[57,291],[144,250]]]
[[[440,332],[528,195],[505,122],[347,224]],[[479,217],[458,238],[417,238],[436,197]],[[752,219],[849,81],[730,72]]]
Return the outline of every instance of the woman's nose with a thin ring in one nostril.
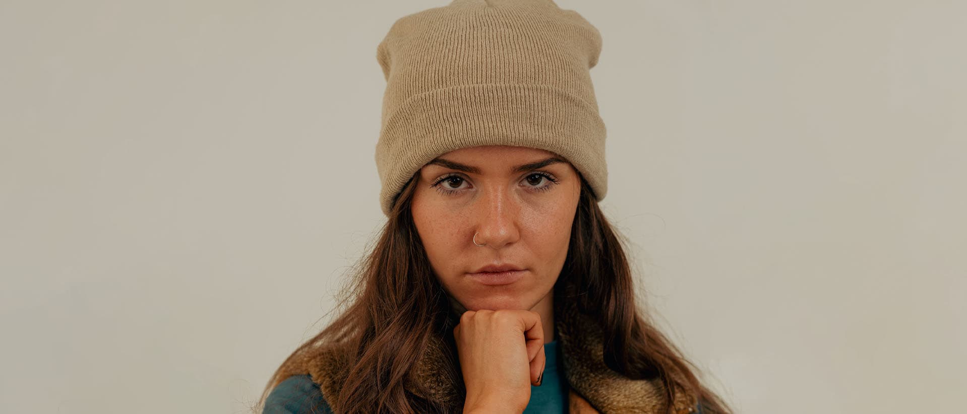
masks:
[[[504,186],[494,186],[481,193],[480,199],[474,203],[477,227],[470,229],[467,239],[479,232],[477,244],[485,243],[492,249],[517,241],[520,237],[520,203],[512,191]]]

